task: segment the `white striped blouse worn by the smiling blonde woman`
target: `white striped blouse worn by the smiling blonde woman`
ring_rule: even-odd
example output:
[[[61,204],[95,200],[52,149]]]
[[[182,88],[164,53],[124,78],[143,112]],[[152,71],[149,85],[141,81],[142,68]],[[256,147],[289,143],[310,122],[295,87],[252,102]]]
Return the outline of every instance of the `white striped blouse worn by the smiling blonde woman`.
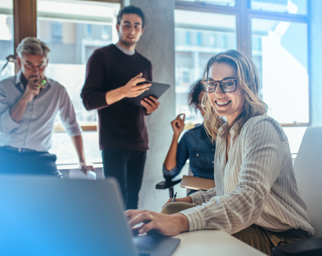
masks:
[[[256,224],[272,232],[300,228],[313,234],[280,124],[268,116],[251,118],[232,143],[234,128],[227,164],[223,128],[218,131],[216,187],[191,194],[198,206],[180,212],[188,218],[189,231],[221,229],[234,234]]]

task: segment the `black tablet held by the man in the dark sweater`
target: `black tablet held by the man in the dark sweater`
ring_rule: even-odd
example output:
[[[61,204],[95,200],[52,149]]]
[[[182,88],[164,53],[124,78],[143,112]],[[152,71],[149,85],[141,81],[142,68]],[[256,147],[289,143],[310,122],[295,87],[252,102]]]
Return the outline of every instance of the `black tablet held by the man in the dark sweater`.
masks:
[[[159,99],[160,96],[170,88],[169,84],[155,83],[151,81],[145,81],[142,83],[138,83],[137,85],[141,85],[144,83],[152,83],[152,85],[150,86],[150,90],[143,92],[141,95],[135,98],[124,98],[123,101],[143,107],[143,105],[140,103],[141,100],[144,100],[144,98],[149,98],[149,96],[153,96],[156,99]]]

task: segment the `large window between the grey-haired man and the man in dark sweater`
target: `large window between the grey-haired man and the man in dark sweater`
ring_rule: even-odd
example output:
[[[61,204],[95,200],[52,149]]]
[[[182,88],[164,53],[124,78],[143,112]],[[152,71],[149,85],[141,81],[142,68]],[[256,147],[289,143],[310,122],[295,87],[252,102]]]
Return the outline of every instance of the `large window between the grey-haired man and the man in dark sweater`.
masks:
[[[86,160],[101,162],[96,131],[97,111],[87,111],[80,97],[87,61],[92,52],[118,41],[115,28],[120,4],[82,0],[38,0],[37,37],[51,49],[46,76],[61,82],[74,102],[83,130]],[[51,153],[57,164],[77,163],[69,136],[56,117]]]

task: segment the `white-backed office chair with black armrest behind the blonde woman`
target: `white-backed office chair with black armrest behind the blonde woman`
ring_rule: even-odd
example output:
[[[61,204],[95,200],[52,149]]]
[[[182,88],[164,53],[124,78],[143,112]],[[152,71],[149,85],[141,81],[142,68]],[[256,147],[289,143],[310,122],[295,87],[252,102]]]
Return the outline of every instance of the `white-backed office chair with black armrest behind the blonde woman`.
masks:
[[[322,255],[322,127],[308,127],[294,163],[298,191],[303,198],[311,225],[310,240],[275,246],[272,256]]]

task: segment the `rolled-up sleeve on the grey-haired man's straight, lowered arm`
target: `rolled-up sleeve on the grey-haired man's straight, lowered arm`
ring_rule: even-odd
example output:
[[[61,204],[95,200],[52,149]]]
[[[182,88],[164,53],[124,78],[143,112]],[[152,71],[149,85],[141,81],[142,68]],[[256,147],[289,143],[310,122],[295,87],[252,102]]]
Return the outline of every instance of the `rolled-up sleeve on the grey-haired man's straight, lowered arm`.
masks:
[[[66,88],[62,90],[59,109],[62,124],[68,135],[71,137],[81,135],[81,127],[77,122],[75,109]]]

